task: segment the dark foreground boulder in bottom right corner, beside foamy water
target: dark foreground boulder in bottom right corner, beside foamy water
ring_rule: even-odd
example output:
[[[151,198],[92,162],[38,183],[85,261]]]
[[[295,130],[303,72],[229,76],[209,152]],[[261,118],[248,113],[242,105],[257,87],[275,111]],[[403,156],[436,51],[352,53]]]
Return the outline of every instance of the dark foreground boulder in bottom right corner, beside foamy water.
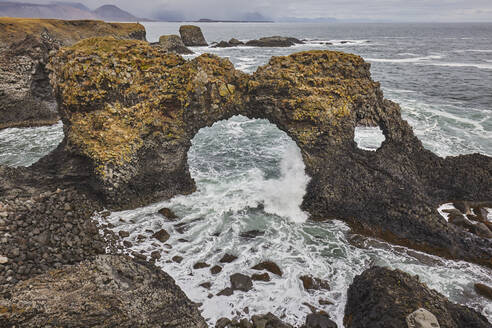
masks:
[[[449,302],[438,292],[399,270],[374,267],[355,277],[348,290],[346,328],[401,328],[419,308],[436,316],[441,328],[490,328],[480,313]]]

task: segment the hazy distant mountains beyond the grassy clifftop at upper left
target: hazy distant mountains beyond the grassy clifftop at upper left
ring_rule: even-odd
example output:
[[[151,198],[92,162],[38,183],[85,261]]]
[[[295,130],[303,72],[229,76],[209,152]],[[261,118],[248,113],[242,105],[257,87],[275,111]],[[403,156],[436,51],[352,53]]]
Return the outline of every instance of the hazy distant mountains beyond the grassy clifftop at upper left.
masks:
[[[91,11],[81,3],[53,2],[33,4],[0,1],[0,17],[55,18],[55,19],[99,19],[112,22],[135,22],[138,18],[114,5],[104,5]]]

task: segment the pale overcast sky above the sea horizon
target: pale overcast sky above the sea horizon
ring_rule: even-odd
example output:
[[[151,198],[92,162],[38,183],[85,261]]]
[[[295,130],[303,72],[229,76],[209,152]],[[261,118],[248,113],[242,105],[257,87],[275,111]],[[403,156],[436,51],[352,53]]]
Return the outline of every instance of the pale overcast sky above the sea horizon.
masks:
[[[47,3],[48,1],[17,2]],[[115,4],[136,16],[149,18],[154,18],[159,13],[176,12],[186,19],[237,19],[243,14],[257,12],[273,19],[334,17],[385,21],[492,22],[492,0],[75,0],[73,2],[84,3],[91,9],[102,4]]]

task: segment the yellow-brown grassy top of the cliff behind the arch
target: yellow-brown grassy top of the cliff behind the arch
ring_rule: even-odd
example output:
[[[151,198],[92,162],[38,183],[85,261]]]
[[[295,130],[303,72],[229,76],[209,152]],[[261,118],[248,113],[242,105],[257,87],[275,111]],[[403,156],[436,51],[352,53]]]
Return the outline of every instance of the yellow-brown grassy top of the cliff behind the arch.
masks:
[[[113,36],[117,39],[145,40],[145,28],[136,23],[106,23],[96,20],[57,20],[0,17],[0,42],[11,44],[22,41],[28,35],[40,36],[43,32],[70,45],[79,40],[96,36]]]

